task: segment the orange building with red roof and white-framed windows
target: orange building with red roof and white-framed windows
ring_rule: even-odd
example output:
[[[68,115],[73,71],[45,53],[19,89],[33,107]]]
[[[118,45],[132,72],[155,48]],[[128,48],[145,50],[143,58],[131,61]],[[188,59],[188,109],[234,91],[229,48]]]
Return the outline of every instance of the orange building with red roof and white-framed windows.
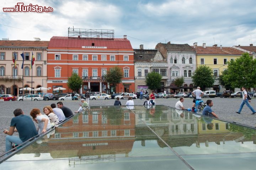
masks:
[[[66,88],[52,91],[54,94],[72,92],[67,81],[74,72],[83,80],[80,94],[87,90],[113,93],[113,85],[107,83],[105,75],[117,66],[123,70],[124,78],[115,92],[134,91],[133,59],[133,49],[126,36],[113,39],[53,36],[47,52],[48,87]]]

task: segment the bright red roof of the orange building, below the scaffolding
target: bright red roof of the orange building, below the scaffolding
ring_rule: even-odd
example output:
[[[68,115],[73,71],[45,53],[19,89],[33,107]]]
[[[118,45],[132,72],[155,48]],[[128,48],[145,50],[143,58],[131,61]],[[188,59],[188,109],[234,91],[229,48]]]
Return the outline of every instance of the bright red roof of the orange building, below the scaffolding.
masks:
[[[114,40],[104,39],[72,39],[64,36],[53,36],[50,39],[49,47],[81,48],[82,46],[101,46],[107,49],[132,49],[128,39],[115,38]]]

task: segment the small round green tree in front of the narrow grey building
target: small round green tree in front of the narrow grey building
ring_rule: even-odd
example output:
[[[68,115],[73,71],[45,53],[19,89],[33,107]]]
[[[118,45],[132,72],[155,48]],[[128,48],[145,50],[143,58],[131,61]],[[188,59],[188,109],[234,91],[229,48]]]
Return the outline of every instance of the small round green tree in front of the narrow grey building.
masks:
[[[160,89],[162,76],[157,72],[148,73],[145,77],[145,83],[151,90]]]

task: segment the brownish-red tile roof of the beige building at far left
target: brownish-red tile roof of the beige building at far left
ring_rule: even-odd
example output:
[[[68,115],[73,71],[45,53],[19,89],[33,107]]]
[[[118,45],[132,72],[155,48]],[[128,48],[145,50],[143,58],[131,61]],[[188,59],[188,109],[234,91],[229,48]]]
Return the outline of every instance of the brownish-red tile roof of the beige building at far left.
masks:
[[[0,47],[48,47],[49,41],[0,40]]]

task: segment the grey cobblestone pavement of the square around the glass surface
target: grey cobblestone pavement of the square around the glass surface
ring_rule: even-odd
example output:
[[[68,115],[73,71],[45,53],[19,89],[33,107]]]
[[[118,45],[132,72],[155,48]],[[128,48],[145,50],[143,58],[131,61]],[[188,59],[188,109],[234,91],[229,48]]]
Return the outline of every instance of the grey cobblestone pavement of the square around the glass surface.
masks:
[[[170,107],[175,107],[175,103],[179,98],[157,98],[156,105],[166,105]],[[183,106],[185,108],[192,108],[191,98],[185,98]],[[234,121],[236,123],[248,125],[255,127],[256,125],[256,114],[251,115],[250,109],[244,105],[241,114],[235,113],[238,111],[242,98],[204,98],[203,101],[207,100],[213,101],[213,111],[219,116],[220,119]],[[114,99],[111,100],[90,100],[90,106],[113,106]],[[120,100],[122,105],[126,104],[127,100]],[[14,117],[13,111],[16,108],[21,108],[25,115],[30,116],[30,111],[33,108],[39,108],[43,114],[43,107],[55,103],[57,105],[58,101],[5,101],[0,102],[0,125],[2,130],[10,128],[11,118]],[[69,107],[73,112],[77,111],[81,101],[62,101],[64,106]],[[144,100],[134,99],[135,105],[143,105]],[[252,98],[251,106],[256,109],[256,98]],[[201,112],[199,112],[201,113]],[[36,125],[37,127],[37,125]],[[17,133],[15,133],[17,135]],[[0,154],[5,152],[5,134],[0,133]]]

